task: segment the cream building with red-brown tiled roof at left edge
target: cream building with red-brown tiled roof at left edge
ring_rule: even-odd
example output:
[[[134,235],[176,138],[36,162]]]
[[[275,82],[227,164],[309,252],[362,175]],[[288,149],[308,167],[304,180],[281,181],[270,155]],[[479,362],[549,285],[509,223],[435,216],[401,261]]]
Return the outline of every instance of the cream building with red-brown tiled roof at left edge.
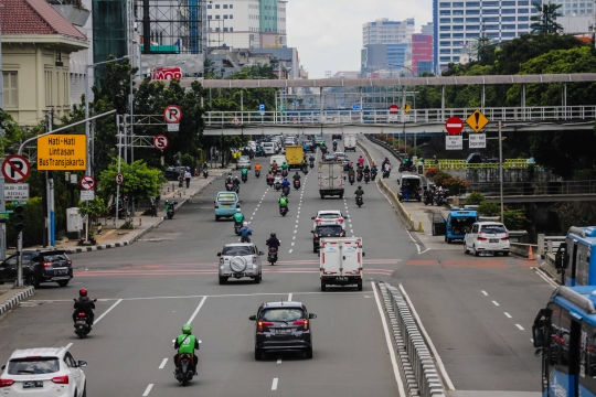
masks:
[[[21,126],[71,110],[71,54],[88,41],[45,0],[2,0],[3,108]]]

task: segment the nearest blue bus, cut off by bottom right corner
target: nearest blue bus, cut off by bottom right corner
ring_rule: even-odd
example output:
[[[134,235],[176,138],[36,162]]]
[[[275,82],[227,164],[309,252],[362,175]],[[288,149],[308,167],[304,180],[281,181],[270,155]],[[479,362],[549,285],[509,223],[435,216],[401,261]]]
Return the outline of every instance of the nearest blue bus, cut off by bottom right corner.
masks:
[[[558,287],[532,325],[544,397],[596,396],[596,287]]]

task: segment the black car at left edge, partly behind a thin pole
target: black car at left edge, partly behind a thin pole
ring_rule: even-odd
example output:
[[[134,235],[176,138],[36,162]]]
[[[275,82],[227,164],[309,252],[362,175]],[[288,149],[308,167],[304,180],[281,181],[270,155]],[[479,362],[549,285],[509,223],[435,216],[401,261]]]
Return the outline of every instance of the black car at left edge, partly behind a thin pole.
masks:
[[[23,281],[28,286],[39,287],[41,282],[57,282],[66,287],[73,278],[73,261],[64,250],[39,249],[23,250]],[[11,255],[0,264],[0,283],[17,280],[19,256]]]

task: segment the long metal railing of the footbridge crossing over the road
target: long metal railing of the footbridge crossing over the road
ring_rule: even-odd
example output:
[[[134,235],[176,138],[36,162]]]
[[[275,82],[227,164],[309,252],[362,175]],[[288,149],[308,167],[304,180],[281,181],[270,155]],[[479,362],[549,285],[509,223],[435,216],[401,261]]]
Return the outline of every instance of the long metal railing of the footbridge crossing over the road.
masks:
[[[217,125],[342,125],[342,124],[400,124],[400,122],[445,122],[449,117],[467,119],[477,108],[411,109],[400,110],[287,110],[287,111],[207,111],[207,126]],[[485,108],[483,115],[491,121],[561,121],[594,120],[596,106],[540,106]]]

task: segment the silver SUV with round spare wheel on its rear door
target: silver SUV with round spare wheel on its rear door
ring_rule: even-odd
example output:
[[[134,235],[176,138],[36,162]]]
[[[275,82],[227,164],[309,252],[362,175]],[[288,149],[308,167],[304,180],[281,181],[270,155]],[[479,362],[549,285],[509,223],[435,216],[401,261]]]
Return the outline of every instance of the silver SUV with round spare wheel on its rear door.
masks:
[[[224,245],[220,257],[220,285],[227,282],[227,279],[233,277],[241,279],[249,277],[259,283],[263,280],[260,256],[256,245],[252,243],[233,243]]]

